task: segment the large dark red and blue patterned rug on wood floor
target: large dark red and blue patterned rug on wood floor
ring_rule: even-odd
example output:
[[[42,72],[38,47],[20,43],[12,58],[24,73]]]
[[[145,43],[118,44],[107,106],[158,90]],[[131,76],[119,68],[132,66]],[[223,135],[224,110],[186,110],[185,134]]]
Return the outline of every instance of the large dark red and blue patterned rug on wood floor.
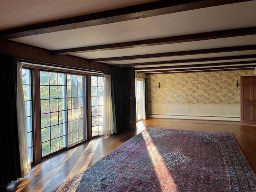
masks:
[[[256,192],[231,133],[148,128],[56,192]]]

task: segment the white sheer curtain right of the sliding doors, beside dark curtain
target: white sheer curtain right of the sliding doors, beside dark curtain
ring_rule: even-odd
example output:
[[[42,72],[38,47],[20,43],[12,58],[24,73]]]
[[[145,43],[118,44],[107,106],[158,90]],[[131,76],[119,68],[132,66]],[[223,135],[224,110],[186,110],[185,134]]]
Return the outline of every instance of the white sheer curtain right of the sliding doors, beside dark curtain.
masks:
[[[111,75],[104,75],[102,135],[113,134],[114,118],[111,98]]]

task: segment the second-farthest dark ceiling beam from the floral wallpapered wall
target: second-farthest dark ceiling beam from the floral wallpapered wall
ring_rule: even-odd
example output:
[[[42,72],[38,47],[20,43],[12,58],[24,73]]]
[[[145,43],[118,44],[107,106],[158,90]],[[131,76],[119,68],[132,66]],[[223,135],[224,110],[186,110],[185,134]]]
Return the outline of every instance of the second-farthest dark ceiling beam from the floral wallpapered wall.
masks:
[[[191,64],[191,65],[175,65],[175,66],[162,66],[162,67],[141,67],[135,68],[135,70],[158,70],[166,68],[189,68],[189,67],[209,67],[209,66],[223,66],[223,65],[240,65],[240,64],[254,64],[256,60],[252,61],[237,61],[237,62],[222,62],[222,63],[206,63],[206,64]]]

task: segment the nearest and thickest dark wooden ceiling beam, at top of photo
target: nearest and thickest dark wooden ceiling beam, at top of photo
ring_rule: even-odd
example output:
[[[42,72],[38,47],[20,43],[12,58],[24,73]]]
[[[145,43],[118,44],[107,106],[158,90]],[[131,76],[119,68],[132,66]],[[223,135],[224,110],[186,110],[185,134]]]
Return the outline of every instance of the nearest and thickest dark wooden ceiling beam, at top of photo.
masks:
[[[93,14],[2,30],[0,31],[0,37],[12,39],[246,1],[250,0],[160,0]]]

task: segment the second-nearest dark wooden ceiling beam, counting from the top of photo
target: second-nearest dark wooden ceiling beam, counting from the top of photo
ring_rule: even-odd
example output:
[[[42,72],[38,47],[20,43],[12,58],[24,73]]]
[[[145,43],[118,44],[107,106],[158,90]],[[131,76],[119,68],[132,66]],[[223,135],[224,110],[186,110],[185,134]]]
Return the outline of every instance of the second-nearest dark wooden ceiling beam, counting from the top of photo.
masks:
[[[217,39],[217,38],[228,38],[228,37],[234,37],[234,36],[245,36],[245,35],[254,35],[254,34],[256,34],[256,27],[248,27],[248,28],[204,32],[204,33],[197,33],[197,34],[188,34],[188,35],[172,36],[172,37],[156,38],[156,39],[148,39],[148,40],[138,40],[138,41],[132,41],[132,42],[122,42],[122,43],[114,43],[114,44],[106,44],[106,45],[98,45],[98,46],[69,48],[69,49],[62,49],[62,50],[54,50],[52,51],[52,53],[53,54],[74,54],[74,53],[84,53],[84,52],[93,52],[93,51],[107,51],[107,50],[183,43],[183,42],[192,42],[192,41],[209,40],[209,39]]]

